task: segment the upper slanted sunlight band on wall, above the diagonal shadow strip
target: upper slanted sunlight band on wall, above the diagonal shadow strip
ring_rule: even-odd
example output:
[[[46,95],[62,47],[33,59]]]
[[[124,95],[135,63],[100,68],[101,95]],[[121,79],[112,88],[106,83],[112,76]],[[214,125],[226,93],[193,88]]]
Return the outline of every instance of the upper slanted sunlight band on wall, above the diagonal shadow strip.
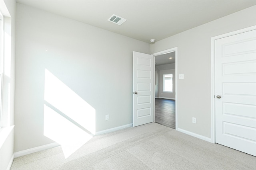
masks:
[[[95,109],[47,69],[44,100],[95,135]]]

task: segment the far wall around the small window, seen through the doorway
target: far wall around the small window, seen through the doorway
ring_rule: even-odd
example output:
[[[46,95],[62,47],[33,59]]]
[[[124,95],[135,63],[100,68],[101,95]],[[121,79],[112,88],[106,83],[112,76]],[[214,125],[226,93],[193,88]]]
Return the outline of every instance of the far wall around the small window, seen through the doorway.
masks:
[[[164,74],[172,74],[172,92],[164,92],[163,76]],[[160,70],[159,74],[159,98],[175,99],[175,69]]]

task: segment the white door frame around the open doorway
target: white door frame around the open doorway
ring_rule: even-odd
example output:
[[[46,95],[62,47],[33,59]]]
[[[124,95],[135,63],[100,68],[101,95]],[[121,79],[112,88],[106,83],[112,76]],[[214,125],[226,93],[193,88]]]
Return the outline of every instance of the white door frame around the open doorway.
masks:
[[[178,130],[178,47],[174,47],[174,48],[171,48],[171,49],[167,49],[167,50],[164,50],[164,51],[159,51],[157,53],[153,53],[151,55],[154,56],[154,82],[156,81],[156,56],[158,55],[163,55],[163,54],[167,54],[167,53],[172,53],[172,52],[175,52],[175,129]],[[154,94],[153,94],[153,98],[155,99],[156,98],[156,95],[155,95],[155,86],[154,86]],[[156,121],[156,114],[155,114],[155,107],[156,107],[156,104],[155,104],[155,100],[154,100],[154,104],[153,104],[153,114],[154,114],[154,122]]]

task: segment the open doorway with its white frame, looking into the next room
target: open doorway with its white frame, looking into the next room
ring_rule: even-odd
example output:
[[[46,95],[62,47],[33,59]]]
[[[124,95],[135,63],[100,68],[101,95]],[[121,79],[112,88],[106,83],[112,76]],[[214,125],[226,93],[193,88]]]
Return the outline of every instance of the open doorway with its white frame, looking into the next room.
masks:
[[[155,70],[155,72],[154,72],[154,82],[155,82],[154,98],[156,100],[157,99],[167,100],[167,101],[157,101],[154,103],[154,121],[157,121],[157,119],[158,119],[158,115],[156,115],[157,114],[156,108],[162,107],[162,106],[156,106],[156,105],[159,105],[159,102],[162,102],[162,103],[175,102],[175,104],[174,104],[175,113],[173,113],[174,111],[172,111],[172,114],[174,114],[174,116],[172,116],[172,117],[175,117],[174,118],[175,125],[173,125],[172,128],[177,130],[178,129],[178,107],[177,107],[178,106],[178,93],[177,93],[177,91],[178,91],[177,90],[178,48],[175,47],[172,49],[160,51],[160,52],[154,53],[152,55],[154,55],[154,66],[155,66],[155,68],[154,68],[154,70]],[[172,59],[169,59],[169,58],[172,58]],[[162,70],[161,74],[160,74],[160,70]],[[173,72],[168,73],[168,71],[166,71],[166,70],[168,70],[169,72],[172,70]],[[166,80],[171,79],[173,81],[172,90],[166,90],[164,88],[165,78],[163,75],[166,75]],[[168,100],[170,100],[170,101],[168,101]],[[170,107],[169,107],[169,109],[170,109]],[[163,116],[161,119],[164,119],[165,116]],[[171,120],[171,121],[173,121],[173,120]]]

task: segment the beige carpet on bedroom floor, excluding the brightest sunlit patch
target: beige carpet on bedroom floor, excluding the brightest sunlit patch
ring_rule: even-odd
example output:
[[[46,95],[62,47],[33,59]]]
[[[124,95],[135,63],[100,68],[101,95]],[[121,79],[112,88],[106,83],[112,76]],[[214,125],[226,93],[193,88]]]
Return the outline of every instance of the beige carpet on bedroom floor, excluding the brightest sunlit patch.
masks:
[[[256,170],[256,157],[158,123],[93,137],[69,158],[61,147],[14,159],[11,170]]]

